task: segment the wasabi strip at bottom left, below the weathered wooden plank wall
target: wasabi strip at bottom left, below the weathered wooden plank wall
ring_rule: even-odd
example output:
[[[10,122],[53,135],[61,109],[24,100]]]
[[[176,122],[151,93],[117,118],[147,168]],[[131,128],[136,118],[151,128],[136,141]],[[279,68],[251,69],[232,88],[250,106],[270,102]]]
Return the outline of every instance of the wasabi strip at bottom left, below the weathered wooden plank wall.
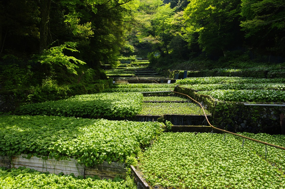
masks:
[[[1,188],[102,188],[102,189],[135,189],[131,182],[117,178],[98,180],[97,178],[76,178],[72,175],[55,175],[42,173],[25,167],[5,169],[0,167]]]

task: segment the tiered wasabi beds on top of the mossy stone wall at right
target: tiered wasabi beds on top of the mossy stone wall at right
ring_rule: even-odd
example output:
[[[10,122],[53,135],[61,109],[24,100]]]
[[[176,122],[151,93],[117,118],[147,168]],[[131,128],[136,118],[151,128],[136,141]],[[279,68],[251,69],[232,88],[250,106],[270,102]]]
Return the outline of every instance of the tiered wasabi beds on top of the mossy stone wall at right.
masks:
[[[178,80],[176,84],[223,101],[284,103],[284,82],[284,78],[193,77]]]

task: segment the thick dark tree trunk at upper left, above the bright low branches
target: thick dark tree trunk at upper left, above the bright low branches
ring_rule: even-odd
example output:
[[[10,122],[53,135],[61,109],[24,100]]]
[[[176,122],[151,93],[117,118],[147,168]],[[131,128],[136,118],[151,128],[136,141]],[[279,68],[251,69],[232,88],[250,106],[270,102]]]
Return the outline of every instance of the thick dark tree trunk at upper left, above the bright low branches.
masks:
[[[40,0],[40,54],[47,46],[50,2],[51,0]]]

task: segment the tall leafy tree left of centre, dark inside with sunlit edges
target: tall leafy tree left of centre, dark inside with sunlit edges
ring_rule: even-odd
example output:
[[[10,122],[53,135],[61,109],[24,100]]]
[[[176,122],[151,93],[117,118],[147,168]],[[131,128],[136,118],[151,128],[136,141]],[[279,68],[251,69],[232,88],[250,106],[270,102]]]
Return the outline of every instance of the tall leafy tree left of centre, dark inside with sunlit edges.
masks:
[[[72,30],[78,50],[87,64],[115,63],[126,45],[126,34],[131,30],[137,0],[65,1],[68,14],[65,22]]]

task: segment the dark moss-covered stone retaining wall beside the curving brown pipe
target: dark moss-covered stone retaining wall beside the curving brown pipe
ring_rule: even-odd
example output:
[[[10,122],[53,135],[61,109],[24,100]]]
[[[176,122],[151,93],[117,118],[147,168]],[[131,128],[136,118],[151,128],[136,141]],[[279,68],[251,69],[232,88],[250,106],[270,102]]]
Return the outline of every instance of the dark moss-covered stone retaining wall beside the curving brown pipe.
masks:
[[[285,113],[285,107],[245,106],[242,102],[218,101],[179,86],[175,91],[200,102],[212,114],[209,121],[217,128],[231,132],[281,134],[280,114]]]

